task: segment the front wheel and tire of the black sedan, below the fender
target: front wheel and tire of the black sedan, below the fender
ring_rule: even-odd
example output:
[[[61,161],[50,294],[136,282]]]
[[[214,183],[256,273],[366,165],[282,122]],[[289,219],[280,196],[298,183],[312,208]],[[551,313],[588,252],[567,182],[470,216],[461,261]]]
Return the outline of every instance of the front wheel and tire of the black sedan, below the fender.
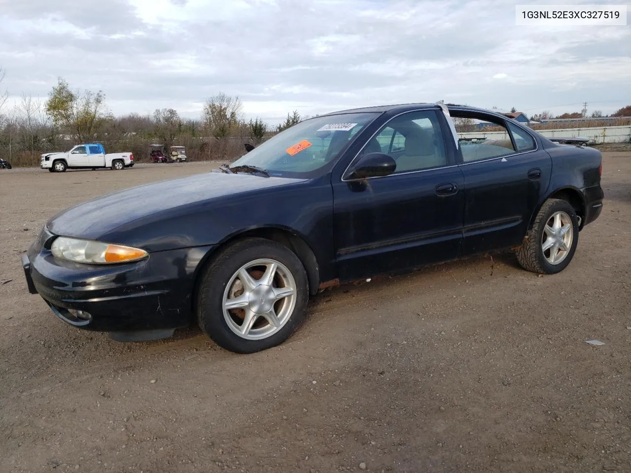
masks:
[[[225,349],[254,353],[285,341],[304,321],[308,299],[300,259],[280,243],[249,238],[223,250],[204,271],[199,326]]]

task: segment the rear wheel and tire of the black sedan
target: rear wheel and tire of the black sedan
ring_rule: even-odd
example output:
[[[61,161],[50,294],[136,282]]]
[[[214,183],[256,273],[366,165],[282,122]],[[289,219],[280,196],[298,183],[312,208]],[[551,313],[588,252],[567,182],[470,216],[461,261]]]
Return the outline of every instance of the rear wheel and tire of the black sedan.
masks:
[[[579,218],[574,207],[561,199],[548,199],[528,230],[517,260],[524,269],[555,274],[570,264],[579,242]]]

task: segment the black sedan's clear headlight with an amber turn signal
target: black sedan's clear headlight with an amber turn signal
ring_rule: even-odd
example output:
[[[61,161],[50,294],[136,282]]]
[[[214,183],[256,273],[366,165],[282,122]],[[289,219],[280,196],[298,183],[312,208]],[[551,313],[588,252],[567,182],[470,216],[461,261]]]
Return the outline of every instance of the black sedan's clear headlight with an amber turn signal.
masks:
[[[56,258],[87,264],[129,263],[148,255],[139,248],[68,237],[56,238],[50,251]]]

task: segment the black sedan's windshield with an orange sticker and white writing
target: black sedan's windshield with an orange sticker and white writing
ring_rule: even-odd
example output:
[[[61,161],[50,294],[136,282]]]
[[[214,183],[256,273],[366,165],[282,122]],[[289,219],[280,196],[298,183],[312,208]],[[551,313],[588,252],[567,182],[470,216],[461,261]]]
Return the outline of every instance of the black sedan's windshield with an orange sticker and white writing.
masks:
[[[261,143],[230,167],[256,166],[272,176],[314,177],[334,163],[339,151],[378,115],[339,114],[305,120]]]

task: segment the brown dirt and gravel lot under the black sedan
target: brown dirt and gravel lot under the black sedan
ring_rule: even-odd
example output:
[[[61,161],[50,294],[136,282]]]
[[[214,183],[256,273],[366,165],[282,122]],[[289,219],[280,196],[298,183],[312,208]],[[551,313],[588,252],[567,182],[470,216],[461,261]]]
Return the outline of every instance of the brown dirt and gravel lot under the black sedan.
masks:
[[[0,472],[631,471],[631,153],[604,154],[561,274],[502,253],[333,289],[254,355],[74,329],[21,272],[62,208],[208,163],[0,171]]]

